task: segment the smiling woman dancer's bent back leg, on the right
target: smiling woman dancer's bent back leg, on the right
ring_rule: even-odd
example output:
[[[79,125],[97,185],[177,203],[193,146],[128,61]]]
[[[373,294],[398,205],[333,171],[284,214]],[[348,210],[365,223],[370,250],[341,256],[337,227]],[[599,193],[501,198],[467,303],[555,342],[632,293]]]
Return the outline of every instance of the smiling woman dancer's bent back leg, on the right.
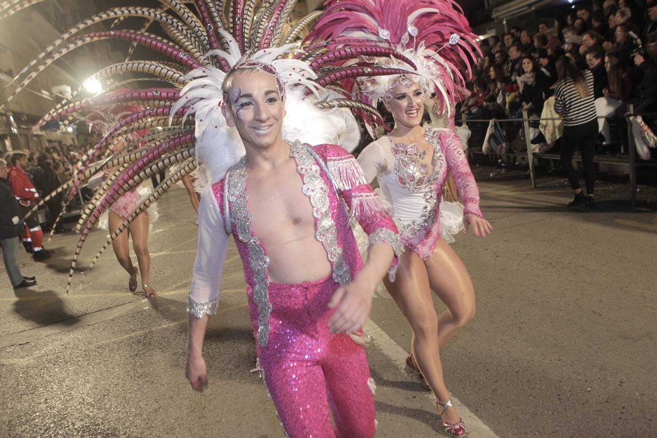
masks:
[[[424,262],[431,289],[447,310],[438,317],[438,345],[443,345],[474,317],[474,286],[465,265],[444,240]]]

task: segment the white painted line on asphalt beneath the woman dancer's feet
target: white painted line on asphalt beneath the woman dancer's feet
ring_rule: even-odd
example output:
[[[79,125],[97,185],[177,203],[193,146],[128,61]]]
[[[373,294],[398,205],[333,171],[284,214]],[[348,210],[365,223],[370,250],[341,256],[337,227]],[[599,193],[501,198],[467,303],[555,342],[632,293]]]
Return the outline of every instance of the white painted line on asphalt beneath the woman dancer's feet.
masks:
[[[372,341],[383,352],[390,361],[392,361],[401,372],[406,372],[406,357],[409,355],[403,348],[399,347],[395,341],[390,339],[376,323],[369,319],[363,326],[365,332],[371,336]],[[427,399],[431,401],[431,405],[436,406],[435,399],[432,393],[427,393]],[[466,408],[463,403],[458,401],[456,397],[451,398],[452,403],[459,411],[463,422],[468,429],[467,436],[470,438],[499,438],[490,427],[486,426],[472,411]]]

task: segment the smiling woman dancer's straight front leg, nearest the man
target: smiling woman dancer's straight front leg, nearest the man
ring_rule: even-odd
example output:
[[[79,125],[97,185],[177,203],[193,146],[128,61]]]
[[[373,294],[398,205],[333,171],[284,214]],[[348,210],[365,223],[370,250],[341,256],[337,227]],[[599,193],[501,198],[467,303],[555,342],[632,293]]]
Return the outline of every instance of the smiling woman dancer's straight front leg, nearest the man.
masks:
[[[390,283],[386,278],[385,284],[401,313],[411,324],[411,350],[415,362],[438,400],[448,401],[451,395],[443,380],[438,348],[438,317],[422,259],[406,248],[399,260],[397,279]],[[455,408],[449,407],[443,412],[442,418],[446,422],[457,423],[461,417]]]

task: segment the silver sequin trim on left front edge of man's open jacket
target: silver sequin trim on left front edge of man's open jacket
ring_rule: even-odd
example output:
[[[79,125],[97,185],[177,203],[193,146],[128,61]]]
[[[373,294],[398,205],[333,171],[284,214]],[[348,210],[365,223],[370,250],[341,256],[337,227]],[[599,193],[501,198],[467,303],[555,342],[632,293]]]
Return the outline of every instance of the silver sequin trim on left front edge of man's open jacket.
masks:
[[[253,290],[253,299],[258,307],[258,334],[256,338],[261,347],[267,346],[269,340],[269,315],[271,314],[271,303],[269,303],[269,280],[267,280],[267,266],[269,257],[260,245],[258,238],[253,235],[251,229],[251,214],[248,212],[246,195],[246,168],[244,157],[228,170],[226,177],[228,196],[233,207],[231,208],[231,222],[233,230],[237,230],[237,238],[246,244],[248,248],[248,261],[253,271],[253,280],[256,286]]]

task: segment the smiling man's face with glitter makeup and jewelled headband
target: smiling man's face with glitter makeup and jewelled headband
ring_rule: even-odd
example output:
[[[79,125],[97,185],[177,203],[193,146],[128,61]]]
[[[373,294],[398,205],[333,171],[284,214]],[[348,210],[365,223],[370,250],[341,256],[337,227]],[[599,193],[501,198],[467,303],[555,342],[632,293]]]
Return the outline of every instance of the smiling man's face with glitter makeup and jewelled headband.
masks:
[[[266,148],[281,137],[285,108],[276,78],[258,70],[233,73],[221,111],[245,147]]]

